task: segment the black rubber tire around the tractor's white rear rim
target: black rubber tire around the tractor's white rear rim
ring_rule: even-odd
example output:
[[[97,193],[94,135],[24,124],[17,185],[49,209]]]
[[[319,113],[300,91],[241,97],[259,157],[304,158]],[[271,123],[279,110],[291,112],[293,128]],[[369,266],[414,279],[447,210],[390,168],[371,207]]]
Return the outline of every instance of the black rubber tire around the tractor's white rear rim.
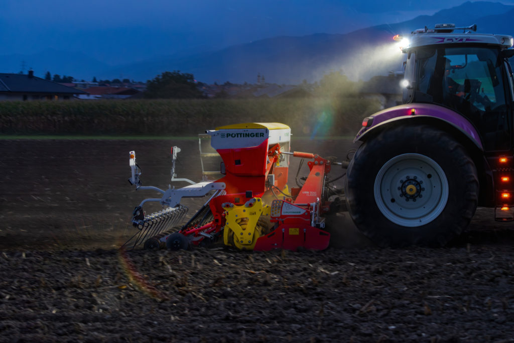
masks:
[[[453,190],[448,202],[458,202],[458,188],[458,193],[464,195],[460,195],[460,204],[447,205],[436,219],[420,227],[406,228],[386,219],[376,205],[370,184],[374,184],[383,163],[402,153],[424,154],[453,167],[447,169],[458,170],[458,177],[447,175],[450,191]],[[348,166],[345,186],[347,208],[354,223],[376,244],[389,247],[445,245],[468,226],[479,198],[478,174],[465,148],[448,133],[427,124],[399,125],[365,141]],[[448,227],[443,229],[440,225]]]

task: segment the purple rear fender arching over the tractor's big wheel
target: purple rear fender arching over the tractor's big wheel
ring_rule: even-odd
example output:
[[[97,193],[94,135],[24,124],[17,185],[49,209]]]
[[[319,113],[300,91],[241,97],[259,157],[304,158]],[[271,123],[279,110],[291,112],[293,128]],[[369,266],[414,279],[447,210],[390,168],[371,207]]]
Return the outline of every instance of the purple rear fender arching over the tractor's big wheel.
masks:
[[[425,103],[409,103],[394,106],[389,109],[380,111],[373,116],[372,124],[369,127],[363,127],[355,136],[354,142],[357,140],[365,141],[374,134],[388,127],[388,125],[401,124],[417,124],[417,123],[433,123],[436,127],[446,127],[447,131],[457,131],[467,137],[480,151],[483,151],[482,140],[473,124],[464,116],[447,109],[443,106]],[[464,145],[467,146],[465,142]]]

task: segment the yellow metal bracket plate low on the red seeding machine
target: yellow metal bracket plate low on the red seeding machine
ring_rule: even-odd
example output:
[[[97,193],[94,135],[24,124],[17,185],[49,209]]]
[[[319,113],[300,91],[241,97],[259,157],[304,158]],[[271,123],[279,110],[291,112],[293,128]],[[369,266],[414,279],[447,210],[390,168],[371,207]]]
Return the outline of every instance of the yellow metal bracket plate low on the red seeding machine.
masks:
[[[253,250],[255,242],[269,227],[270,207],[261,198],[254,197],[242,206],[226,206],[226,224],[223,233],[225,245],[241,250]]]

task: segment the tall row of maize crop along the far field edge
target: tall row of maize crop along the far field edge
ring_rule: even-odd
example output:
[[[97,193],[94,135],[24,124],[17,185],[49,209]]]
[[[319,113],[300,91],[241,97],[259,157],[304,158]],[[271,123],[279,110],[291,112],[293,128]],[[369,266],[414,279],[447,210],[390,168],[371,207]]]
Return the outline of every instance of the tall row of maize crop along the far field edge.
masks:
[[[0,133],[194,135],[238,122],[282,122],[299,136],[352,134],[379,103],[356,98],[0,101]]]

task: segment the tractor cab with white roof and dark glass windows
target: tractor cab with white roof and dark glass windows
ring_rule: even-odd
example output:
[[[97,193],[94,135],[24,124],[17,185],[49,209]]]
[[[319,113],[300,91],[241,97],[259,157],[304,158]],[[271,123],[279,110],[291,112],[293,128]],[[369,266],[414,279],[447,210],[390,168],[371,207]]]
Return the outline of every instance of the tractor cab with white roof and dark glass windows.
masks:
[[[464,33],[455,31],[463,30]],[[485,151],[512,145],[514,100],[512,37],[471,33],[476,25],[439,24],[412,32],[407,54],[403,103],[433,103],[466,117]]]

